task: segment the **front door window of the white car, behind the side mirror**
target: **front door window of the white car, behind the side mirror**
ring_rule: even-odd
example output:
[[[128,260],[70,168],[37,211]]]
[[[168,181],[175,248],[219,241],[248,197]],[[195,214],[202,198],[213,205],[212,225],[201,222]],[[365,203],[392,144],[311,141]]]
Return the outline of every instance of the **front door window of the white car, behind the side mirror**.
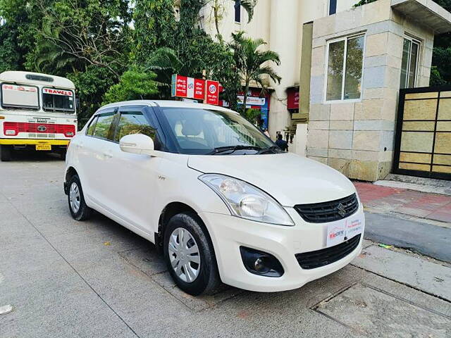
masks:
[[[121,112],[114,141],[119,142],[122,137],[130,134],[144,134],[155,141],[155,129],[149,125],[140,111]]]

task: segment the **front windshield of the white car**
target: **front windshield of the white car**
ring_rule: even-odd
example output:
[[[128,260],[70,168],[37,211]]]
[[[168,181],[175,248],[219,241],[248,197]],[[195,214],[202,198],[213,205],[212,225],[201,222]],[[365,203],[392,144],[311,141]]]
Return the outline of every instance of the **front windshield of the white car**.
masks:
[[[182,154],[216,154],[218,149],[234,146],[241,153],[257,154],[261,149],[275,146],[257,127],[236,113],[202,108],[162,108],[162,111]],[[227,150],[239,154],[234,149]]]

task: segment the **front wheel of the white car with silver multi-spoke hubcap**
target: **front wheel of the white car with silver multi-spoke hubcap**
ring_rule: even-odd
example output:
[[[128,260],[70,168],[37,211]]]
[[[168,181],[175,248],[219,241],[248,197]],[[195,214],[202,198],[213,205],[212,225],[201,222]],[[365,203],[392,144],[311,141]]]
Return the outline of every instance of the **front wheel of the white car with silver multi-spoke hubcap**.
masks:
[[[164,232],[164,260],[169,273],[171,273],[175,284],[192,296],[202,293],[213,294],[221,284],[213,244],[211,244],[209,235],[206,234],[202,225],[202,220],[196,214],[179,213],[169,220]],[[189,239],[185,244],[185,251],[180,251],[180,246],[176,248],[173,245],[174,243],[180,245],[178,242],[180,231],[183,232],[184,238]],[[192,249],[194,245],[197,246],[197,254],[187,251]],[[196,251],[196,248],[194,247],[192,251]],[[199,260],[198,265],[197,260]],[[175,264],[175,268],[173,268],[173,264]],[[187,273],[185,270],[186,264],[189,264],[188,269],[191,268],[191,273],[190,271]],[[178,272],[176,272],[177,269],[179,269]],[[187,277],[187,275],[189,276]],[[194,278],[193,275],[195,275]]]

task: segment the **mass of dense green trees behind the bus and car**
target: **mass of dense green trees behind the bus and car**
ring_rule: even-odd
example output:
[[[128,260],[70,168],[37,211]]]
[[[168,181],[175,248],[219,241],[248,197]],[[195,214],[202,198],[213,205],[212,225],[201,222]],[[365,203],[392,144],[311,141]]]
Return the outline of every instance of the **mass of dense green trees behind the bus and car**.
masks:
[[[170,99],[173,73],[218,80],[236,108],[243,74],[236,54],[199,27],[209,1],[181,1],[176,20],[173,0],[0,0],[0,71],[68,77],[80,126],[104,102]],[[249,20],[255,4],[241,2]]]

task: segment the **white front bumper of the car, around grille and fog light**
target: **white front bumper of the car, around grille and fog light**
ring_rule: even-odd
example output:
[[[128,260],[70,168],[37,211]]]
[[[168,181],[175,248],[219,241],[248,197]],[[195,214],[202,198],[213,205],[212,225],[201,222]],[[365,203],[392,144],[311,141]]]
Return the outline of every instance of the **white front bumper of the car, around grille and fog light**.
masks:
[[[258,223],[219,213],[200,215],[211,235],[219,274],[224,283],[256,292],[296,289],[311,280],[340,270],[362,251],[363,232],[357,247],[344,258],[319,268],[302,269],[295,255],[325,249],[330,223],[307,223],[295,209],[285,208],[285,210],[295,221],[295,226]],[[359,205],[357,212],[347,219],[356,218],[362,220],[364,228],[362,204]],[[281,277],[250,273],[242,262],[240,246],[271,253],[280,261],[285,272]]]

